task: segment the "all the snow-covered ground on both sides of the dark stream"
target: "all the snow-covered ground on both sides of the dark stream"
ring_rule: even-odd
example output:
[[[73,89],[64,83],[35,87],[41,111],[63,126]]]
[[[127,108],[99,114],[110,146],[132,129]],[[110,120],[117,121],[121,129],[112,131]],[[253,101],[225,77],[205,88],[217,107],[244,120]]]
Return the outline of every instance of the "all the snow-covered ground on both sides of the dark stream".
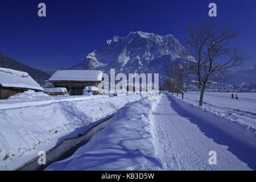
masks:
[[[47,170],[255,170],[255,100],[251,93],[239,93],[238,101],[230,94],[205,93],[203,107],[196,92],[184,101],[170,93],[156,100],[17,94],[0,101],[0,168],[15,169],[117,111],[105,129]],[[209,164],[210,151],[217,164]]]

